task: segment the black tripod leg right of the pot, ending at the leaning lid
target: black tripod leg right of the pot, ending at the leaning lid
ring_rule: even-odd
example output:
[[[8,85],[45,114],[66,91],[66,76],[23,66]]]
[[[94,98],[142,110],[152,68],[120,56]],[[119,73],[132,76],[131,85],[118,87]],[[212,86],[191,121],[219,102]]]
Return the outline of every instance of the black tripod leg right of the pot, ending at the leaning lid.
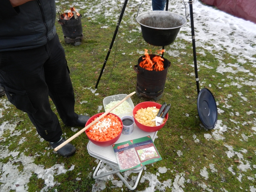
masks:
[[[199,88],[199,79],[197,74],[197,63],[196,63],[196,40],[195,40],[195,31],[194,31],[194,18],[193,18],[193,2],[194,0],[188,1],[189,12],[190,12],[190,24],[191,24],[191,36],[192,36],[192,45],[193,45],[193,58],[194,58],[194,67],[195,67],[195,76],[196,76],[196,89],[197,95],[200,92]]]

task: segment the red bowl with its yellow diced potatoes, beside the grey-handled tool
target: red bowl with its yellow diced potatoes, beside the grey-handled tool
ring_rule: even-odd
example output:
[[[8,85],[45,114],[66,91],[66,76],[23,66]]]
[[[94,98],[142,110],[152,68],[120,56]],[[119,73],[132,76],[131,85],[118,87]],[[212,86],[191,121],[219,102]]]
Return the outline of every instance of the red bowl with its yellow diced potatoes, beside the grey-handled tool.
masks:
[[[150,114],[150,110],[152,111],[152,107],[156,107],[156,109],[160,109],[162,105],[160,105],[159,103],[156,103],[156,102],[152,102],[152,101],[145,101],[145,102],[142,102],[142,103],[139,103],[138,105],[136,105],[134,108],[133,108],[133,111],[132,111],[132,114],[133,114],[133,118],[134,118],[134,122],[135,124],[143,131],[145,132],[155,132],[155,131],[159,131],[166,123],[167,119],[168,119],[168,113],[164,116],[164,121],[161,125],[159,126],[156,126],[156,122],[152,122],[150,119],[152,119],[153,117],[151,116],[151,118],[148,118],[147,116],[144,115],[144,119],[143,119],[143,116],[140,117],[140,118],[137,118],[138,116],[136,115],[137,114],[137,111],[140,111],[141,109],[146,109],[148,108],[148,112]],[[143,113],[143,112],[142,112]],[[146,113],[145,113],[146,114]],[[153,114],[150,114],[150,115],[153,115]],[[157,113],[154,113],[153,116],[156,116]],[[145,122],[145,118],[151,122]],[[144,120],[144,121],[143,121]],[[145,125],[147,124],[147,125]],[[149,125],[150,124],[150,125]]]

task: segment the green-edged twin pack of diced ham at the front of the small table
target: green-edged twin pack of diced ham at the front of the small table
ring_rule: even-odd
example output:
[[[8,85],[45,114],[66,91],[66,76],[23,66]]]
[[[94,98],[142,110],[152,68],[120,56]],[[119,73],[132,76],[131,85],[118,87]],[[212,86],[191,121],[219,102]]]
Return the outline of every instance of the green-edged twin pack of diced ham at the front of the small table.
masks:
[[[120,172],[162,160],[149,135],[139,139],[116,143],[112,147]]]

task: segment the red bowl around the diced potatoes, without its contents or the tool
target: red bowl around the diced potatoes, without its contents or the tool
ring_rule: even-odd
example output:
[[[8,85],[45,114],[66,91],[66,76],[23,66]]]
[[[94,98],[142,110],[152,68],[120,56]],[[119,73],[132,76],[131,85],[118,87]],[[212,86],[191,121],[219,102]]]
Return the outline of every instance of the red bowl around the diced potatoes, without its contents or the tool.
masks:
[[[139,103],[138,105],[136,105],[134,108],[133,108],[133,111],[132,111],[132,114],[133,116],[136,114],[136,112],[141,109],[141,108],[147,108],[147,107],[156,107],[158,109],[161,108],[162,105],[160,105],[159,103],[156,103],[156,102],[151,102],[151,101],[145,101],[145,102],[142,102],[142,103]],[[143,131],[145,132],[155,132],[155,131],[159,131],[166,123],[167,119],[168,119],[168,113],[165,115],[165,122],[159,126],[155,126],[155,127],[149,127],[149,126],[146,126],[146,125],[143,125],[141,124],[140,122],[138,122],[135,118],[134,118],[134,122],[135,124]]]

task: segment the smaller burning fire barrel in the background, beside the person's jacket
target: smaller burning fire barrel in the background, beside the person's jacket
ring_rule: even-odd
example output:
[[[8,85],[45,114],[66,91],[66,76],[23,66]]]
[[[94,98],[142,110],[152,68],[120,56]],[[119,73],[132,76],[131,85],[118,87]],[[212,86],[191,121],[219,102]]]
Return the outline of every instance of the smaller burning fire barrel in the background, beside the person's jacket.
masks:
[[[84,37],[81,15],[76,12],[74,7],[70,8],[70,10],[71,12],[60,15],[58,23],[61,25],[65,42],[80,45]]]

